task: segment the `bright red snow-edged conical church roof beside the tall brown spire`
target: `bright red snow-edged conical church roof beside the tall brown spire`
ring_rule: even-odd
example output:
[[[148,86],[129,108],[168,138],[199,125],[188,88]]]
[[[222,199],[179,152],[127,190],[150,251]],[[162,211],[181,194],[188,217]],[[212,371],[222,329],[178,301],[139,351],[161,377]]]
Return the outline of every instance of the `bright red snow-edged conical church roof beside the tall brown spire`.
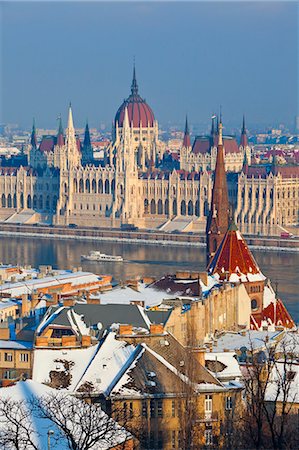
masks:
[[[217,273],[223,280],[230,279],[232,274],[236,275],[236,280],[232,278],[231,281],[237,281],[237,278],[239,281],[251,281],[250,275],[257,274],[263,277],[245,239],[234,223],[229,226],[208,266],[208,272]]]

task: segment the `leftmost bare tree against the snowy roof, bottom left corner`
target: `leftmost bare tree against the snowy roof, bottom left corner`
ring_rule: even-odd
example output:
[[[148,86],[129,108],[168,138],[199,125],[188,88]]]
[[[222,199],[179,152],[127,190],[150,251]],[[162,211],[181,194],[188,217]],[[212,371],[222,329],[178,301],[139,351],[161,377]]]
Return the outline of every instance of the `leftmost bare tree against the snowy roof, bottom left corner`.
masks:
[[[40,450],[32,413],[24,400],[0,399],[0,448]]]

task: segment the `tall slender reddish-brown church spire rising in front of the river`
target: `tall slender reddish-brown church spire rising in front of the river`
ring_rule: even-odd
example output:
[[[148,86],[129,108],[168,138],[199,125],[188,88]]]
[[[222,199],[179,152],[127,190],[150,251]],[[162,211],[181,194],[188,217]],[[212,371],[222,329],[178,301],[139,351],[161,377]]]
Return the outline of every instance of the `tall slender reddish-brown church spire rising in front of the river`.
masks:
[[[219,247],[229,224],[229,201],[222,141],[222,122],[219,123],[216,167],[210,213],[207,220],[207,263],[211,261]]]

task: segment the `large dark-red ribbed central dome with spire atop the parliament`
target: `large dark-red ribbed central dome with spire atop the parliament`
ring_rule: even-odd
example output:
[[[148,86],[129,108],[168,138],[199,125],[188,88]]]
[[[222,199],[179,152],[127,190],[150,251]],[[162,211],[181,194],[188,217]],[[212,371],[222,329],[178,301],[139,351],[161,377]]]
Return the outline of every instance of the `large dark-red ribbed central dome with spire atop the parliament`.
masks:
[[[125,109],[128,110],[130,126],[133,123],[134,128],[153,127],[155,122],[155,116],[151,108],[146,101],[138,94],[138,85],[136,81],[135,67],[133,71],[133,81],[131,85],[131,95],[122,103],[118,108],[115,115],[115,125],[118,122],[118,126],[122,127],[125,117]]]

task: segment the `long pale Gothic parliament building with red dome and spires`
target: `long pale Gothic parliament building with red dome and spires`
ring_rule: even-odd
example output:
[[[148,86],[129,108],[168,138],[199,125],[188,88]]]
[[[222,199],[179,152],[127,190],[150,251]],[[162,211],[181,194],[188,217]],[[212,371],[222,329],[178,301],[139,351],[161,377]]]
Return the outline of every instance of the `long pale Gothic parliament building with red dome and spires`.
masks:
[[[72,108],[67,128],[38,143],[35,125],[28,165],[0,167],[0,221],[91,227],[202,231],[209,214],[219,126],[191,142],[186,121],[180,158],[166,164],[158,122],[138,93],[135,68],[131,94],[113,122],[103,163],[94,160],[89,129],[76,136]],[[225,168],[235,221],[243,233],[271,234],[298,223],[299,166],[252,165],[243,121],[239,142],[223,137]],[[169,159],[169,158],[168,158]],[[279,226],[279,227],[277,227]]]

